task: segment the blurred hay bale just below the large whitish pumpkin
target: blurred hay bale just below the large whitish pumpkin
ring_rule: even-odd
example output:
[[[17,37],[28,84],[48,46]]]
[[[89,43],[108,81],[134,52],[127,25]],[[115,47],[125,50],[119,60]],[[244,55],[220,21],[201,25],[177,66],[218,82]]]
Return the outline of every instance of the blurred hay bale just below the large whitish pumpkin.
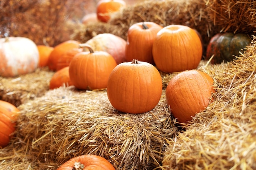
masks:
[[[48,68],[37,68],[34,73],[17,77],[0,77],[0,100],[16,107],[49,90],[49,81],[54,73]]]

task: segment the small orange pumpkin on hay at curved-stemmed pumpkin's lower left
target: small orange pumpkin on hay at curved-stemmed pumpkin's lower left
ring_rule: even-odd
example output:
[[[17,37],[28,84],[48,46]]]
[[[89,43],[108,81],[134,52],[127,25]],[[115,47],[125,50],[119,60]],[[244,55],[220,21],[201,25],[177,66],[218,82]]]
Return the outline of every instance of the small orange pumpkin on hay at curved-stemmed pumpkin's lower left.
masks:
[[[69,66],[56,71],[50,80],[50,89],[59,88],[61,86],[72,86],[69,74]]]

